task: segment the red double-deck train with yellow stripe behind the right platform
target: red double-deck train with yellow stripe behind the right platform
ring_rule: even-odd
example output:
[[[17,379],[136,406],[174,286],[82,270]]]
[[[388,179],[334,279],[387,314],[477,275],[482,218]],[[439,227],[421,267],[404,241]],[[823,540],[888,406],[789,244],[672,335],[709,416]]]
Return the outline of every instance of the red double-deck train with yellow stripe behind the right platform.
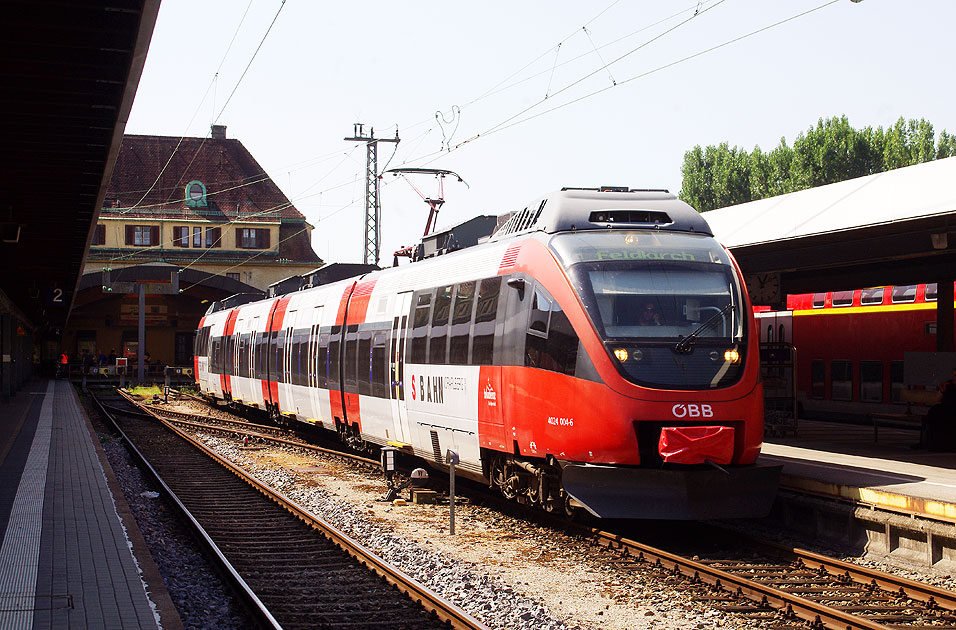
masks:
[[[898,411],[904,350],[936,350],[936,284],[791,295],[786,311],[757,313],[757,325],[762,342],[797,349],[801,415]]]

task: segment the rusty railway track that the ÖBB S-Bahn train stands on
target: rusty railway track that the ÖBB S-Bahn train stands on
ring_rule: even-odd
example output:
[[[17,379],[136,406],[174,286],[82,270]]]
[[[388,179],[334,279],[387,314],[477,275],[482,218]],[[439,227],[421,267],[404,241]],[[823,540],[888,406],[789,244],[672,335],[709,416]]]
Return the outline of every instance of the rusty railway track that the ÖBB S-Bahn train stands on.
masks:
[[[374,460],[290,438],[291,432],[285,429],[220,419],[210,423],[197,414],[152,408],[150,411],[176,416],[174,421],[190,430],[332,452],[377,467]],[[538,511],[535,514],[544,518]],[[576,530],[614,552],[615,562],[621,568],[657,571],[699,585],[705,591],[701,599],[714,608],[759,619],[767,627],[956,629],[956,593],[807,550],[738,539],[733,550],[712,552],[699,559],[597,528],[545,520],[552,526]],[[759,549],[759,553],[757,557],[748,553],[747,558],[739,559],[743,548],[748,552]]]

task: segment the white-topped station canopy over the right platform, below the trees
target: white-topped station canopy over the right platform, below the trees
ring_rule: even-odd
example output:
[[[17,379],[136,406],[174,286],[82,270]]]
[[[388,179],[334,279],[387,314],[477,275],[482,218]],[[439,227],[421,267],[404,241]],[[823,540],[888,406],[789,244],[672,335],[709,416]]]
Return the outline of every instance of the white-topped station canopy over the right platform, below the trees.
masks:
[[[956,157],[703,214],[748,286],[787,293],[952,280]]]

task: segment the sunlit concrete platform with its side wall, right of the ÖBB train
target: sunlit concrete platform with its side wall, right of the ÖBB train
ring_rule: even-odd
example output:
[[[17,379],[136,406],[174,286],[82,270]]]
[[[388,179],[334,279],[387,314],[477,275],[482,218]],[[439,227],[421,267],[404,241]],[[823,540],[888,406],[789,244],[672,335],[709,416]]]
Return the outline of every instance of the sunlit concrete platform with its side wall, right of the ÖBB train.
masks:
[[[783,465],[772,518],[788,530],[901,564],[956,570],[956,453],[914,449],[915,430],[801,420],[769,438]]]

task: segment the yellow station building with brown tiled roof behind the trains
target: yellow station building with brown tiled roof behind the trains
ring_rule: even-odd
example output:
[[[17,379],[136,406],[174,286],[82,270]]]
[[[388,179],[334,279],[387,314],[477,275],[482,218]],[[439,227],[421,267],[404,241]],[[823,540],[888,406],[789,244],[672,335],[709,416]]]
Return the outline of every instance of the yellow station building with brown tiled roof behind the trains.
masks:
[[[191,365],[209,304],[322,265],[305,220],[224,126],[211,137],[125,135],[93,229],[62,348]]]

